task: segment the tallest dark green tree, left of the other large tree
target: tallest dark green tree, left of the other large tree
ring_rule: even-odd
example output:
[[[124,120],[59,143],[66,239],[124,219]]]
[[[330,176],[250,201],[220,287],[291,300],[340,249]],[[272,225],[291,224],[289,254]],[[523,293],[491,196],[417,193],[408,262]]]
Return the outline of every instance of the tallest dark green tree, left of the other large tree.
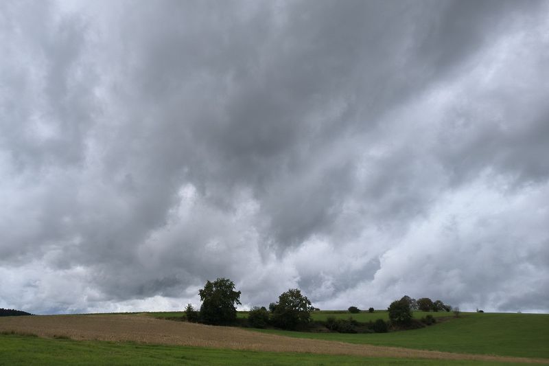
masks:
[[[235,284],[226,278],[215,282],[207,281],[202,290],[198,290],[202,306],[200,319],[204,323],[224,325],[236,320],[235,304],[240,303],[240,291],[235,291]]]

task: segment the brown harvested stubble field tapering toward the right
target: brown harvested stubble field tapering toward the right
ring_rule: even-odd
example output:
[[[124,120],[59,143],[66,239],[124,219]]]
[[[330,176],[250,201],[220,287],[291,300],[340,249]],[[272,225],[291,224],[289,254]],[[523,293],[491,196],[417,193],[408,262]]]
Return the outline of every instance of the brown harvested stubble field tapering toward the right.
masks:
[[[266,352],[307,352],[367,357],[513,363],[547,362],[547,360],[533,358],[456,354],[398,347],[356,345],[334,341],[295,339],[274,334],[250,332],[238,328],[166,321],[140,315],[51,315],[1,318],[0,332],[11,331],[36,334],[43,337],[66,336],[75,340],[132,341]]]

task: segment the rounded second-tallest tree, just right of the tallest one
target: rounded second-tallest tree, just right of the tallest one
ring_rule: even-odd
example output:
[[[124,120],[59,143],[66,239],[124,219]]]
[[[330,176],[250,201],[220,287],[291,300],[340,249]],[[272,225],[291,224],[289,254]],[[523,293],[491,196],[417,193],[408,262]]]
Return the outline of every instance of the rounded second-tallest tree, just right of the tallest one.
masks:
[[[272,321],[279,328],[295,329],[297,325],[311,321],[313,310],[311,301],[301,295],[299,289],[290,288],[279,296],[279,301],[274,305]]]

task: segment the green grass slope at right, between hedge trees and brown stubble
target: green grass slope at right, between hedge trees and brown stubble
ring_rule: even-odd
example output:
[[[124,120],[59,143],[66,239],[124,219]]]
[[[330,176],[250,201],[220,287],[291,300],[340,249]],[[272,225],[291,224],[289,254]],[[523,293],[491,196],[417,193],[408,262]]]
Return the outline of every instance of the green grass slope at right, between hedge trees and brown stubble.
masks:
[[[549,314],[469,313],[428,328],[384,334],[258,331],[420,350],[549,358]]]

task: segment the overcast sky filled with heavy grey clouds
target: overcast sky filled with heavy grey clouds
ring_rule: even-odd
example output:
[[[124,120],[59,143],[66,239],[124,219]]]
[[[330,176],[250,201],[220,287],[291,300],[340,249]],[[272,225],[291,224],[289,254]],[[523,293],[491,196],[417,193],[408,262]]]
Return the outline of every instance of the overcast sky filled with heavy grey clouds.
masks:
[[[1,1],[0,308],[549,312],[549,2]]]

